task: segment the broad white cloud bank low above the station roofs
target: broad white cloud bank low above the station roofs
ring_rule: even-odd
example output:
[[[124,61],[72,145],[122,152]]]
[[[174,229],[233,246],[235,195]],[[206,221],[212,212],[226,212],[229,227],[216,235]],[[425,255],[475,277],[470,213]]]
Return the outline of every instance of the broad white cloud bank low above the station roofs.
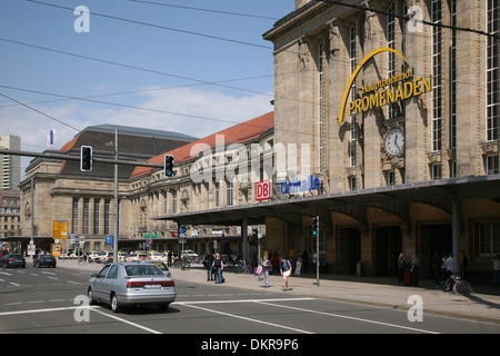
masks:
[[[27,151],[47,149],[47,135],[51,129],[56,129],[58,134],[58,141],[53,149],[60,149],[78,134],[71,127],[84,129],[90,125],[101,123],[178,131],[202,138],[273,110],[270,105],[272,97],[266,95],[233,97],[199,88],[168,90],[153,90],[158,87],[142,88],[144,89],[151,90],[143,91],[133,98],[122,96],[97,100],[148,110],[86,101],[31,105],[67,126],[26,107],[3,103],[0,106],[0,135],[20,136],[22,150]],[[134,103],[129,103],[132,99]],[[23,159],[22,174],[29,160]]]

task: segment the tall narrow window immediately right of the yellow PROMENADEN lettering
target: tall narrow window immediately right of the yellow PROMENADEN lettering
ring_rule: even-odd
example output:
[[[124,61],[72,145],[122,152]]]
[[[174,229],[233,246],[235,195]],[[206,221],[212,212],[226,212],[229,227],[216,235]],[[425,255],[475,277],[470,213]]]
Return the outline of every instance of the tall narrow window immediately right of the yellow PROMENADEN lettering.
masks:
[[[441,0],[432,0],[431,18],[441,23]],[[432,27],[432,151],[441,150],[442,129],[442,33],[440,27]]]

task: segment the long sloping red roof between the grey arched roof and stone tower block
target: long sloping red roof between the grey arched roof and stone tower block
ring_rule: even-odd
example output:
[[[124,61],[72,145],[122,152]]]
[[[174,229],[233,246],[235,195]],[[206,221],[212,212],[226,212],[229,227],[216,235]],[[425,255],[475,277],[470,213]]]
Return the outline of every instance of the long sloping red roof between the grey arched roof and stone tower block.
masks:
[[[236,125],[220,132],[210,135],[206,138],[192,141],[188,145],[181,146],[177,149],[153,157],[149,159],[148,162],[154,165],[162,165],[164,155],[172,155],[176,164],[183,162],[196,157],[191,156],[191,148],[197,144],[202,144],[204,146],[208,145],[209,147],[216,147],[217,135],[223,135],[224,145],[243,144],[252,139],[259,138],[273,127],[274,127],[274,112],[271,111],[258,118],[244,121],[242,123]],[[136,167],[130,178],[138,178],[140,176],[151,172],[151,170],[152,168],[149,167]]]

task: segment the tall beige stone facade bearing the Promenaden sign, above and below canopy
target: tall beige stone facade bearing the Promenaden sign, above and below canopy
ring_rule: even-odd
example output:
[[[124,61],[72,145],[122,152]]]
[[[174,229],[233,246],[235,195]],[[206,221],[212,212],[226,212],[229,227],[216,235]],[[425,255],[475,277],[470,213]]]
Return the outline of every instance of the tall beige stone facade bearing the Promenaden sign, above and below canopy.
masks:
[[[488,21],[498,29],[498,8],[490,9],[488,17],[488,1],[482,0],[344,2],[380,11],[296,1],[296,11],[263,34],[274,43],[276,144],[310,146],[311,172],[321,177],[324,194],[498,175],[499,86],[498,79],[487,82],[491,78],[487,71],[498,76],[499,46],[490,44],[490,51],[497,53],[487,55],[484,34],[420,26],[390,16],[404,16],[411,9],[417,19],[428,23],[484,31]],[[494,2],[489,6],[496,7]],[[388,48],[393,51],[383,50],[363,63],[347,97],[348,103],[359,100],[359,108],[368,108],[373,100],[374,108],[350,115],[347,106],[340,121],[351,76],[369,55]],[[496,68],[488,65],[487,56],[497,58],[491,61]],[[419,95],[382,105],[380,97],[369,99],[363,89],[410,70],[412,79],[399,85],[430,78],[427,90],[420,89],[422,83],[413,87]],[[488,88],[493,88],[493,105],[489,105],[497,102],[490,128]],[[381,90],[374,92],[381,95]],[[406,138],[397,155],[386,148],[393,129],[402,130]],[[494,134],[489,136],[491,130]],[[320,258],[329,271],[354,273],[357,263],[362,261],[368,274],[392,274],[396,257],[403,251],[419,255],[428,275],[432,251],[451,251],[451,209],[439,202],[408,200],[349,209],[321,211]],[[316,245],[308,229],[316,214],[306,212],[301,225],[284,224],[287,227],[283,221],[269,220],[268,236],[273,231],[276,238],[268,238],[268,247],[282,253],[307,250],[311,256]],[[461,248],[474,268],[489,270],[493,251],[480,246],[481,226],[499,228],[499,202],[464,200],[461,216]]]

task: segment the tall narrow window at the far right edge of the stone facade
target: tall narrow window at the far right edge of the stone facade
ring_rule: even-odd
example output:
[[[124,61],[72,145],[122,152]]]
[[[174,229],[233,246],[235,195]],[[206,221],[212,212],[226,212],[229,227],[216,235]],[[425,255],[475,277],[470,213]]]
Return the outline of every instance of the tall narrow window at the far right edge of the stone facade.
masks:
[[[500,34],[500,0],[488,0],[488,32]],[[499,139],[500,40],[487,39],[487,141]]]

